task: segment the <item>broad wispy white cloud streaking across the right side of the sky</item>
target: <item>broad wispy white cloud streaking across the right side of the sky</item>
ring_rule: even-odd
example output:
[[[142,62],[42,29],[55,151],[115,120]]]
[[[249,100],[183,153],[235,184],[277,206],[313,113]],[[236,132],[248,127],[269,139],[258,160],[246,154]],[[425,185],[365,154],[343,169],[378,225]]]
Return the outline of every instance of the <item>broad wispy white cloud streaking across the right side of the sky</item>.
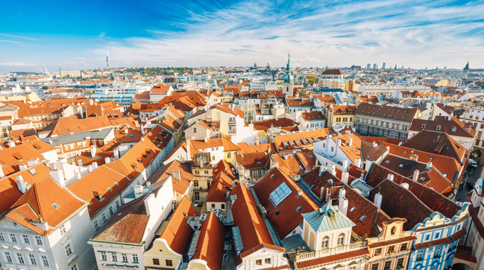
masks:
[[[280,9],[273,1],[248,0],[209,11],[191,4],[177,22],[184,31],[157,30],[154,38],[113,41],[112,63],[198,66],[274,60],[283,65],[288,50],[307,66],[386,62],[460,67],[471,56],[476,64],[484,60],[484,35],[473,35],[483,32],[483,2],[318,3],[285,1],[281,5],[286,8]]]

